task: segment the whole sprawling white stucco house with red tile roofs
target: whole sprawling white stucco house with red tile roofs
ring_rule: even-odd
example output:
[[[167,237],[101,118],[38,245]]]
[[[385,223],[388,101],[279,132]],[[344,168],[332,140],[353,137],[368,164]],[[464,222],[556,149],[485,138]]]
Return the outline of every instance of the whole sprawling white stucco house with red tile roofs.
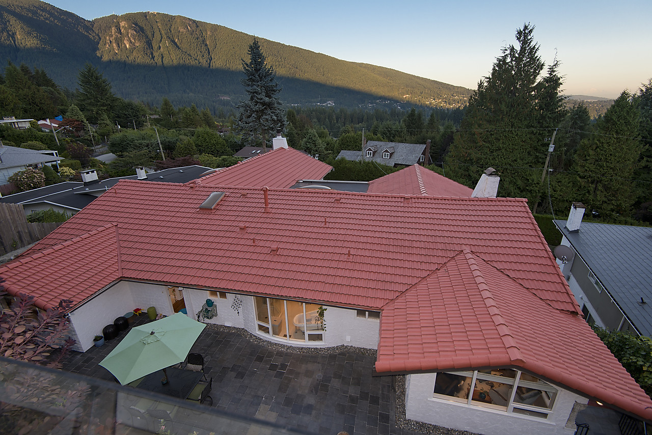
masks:
[[[3,285],[40,308],[71,299],[80,350],[134,308],[182,306],[271,342],[376,349],[376,372],[407,375],[406,417],[435,425],[570,435],[589,399],[652,421],[526,200],[284,188],[312,162],[276,149],[184,185],[120,181]]]

